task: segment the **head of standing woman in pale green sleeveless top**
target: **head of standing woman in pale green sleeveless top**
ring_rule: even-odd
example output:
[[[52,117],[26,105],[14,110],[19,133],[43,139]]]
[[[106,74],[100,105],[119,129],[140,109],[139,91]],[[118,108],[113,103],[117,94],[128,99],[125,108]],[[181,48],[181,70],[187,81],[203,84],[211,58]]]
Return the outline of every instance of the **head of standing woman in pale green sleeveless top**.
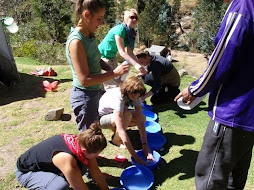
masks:
[[[97,29],[97,27],[102,24],[103,16],[105,14],[105,6],[100,0],[77,0],[75,13],[75,26],[77,26],[83,20],[89,20],[95,25],[97,24],[95,26]]]

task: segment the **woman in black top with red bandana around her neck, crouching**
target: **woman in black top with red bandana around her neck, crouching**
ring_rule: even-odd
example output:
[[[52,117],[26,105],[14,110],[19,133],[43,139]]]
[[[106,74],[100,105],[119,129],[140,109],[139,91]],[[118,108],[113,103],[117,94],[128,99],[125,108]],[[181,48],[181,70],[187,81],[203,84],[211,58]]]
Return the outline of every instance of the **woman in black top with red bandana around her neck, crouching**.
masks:
[[[82,176],[89,171],[101,190],[108,190],[96,157],[107,146],[98,123],[78,135],[61,134],[31,147],[17,160],[22,187],[48,190],[88,190]]]

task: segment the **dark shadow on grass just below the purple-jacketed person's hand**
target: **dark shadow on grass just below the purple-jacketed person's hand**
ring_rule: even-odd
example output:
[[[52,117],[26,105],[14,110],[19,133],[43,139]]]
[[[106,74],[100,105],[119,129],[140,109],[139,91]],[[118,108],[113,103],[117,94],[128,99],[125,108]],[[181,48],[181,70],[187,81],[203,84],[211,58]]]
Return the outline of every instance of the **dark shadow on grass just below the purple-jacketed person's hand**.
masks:
[[[167,110],[174,110],[176,115],[178,115],[181,118],[186,118],[186,115],[189,115],[189,114],[198,113],[199,111],[208,111],[207,106],[203,107],[205,105],[207,104],[204,101],[202,101],[199,103],[199,105],[194,107],[192,110],[183,110],[177,105],[175,101],[170,100],[163,104],[153,105],[153,108],[155,113],[164,112]]]

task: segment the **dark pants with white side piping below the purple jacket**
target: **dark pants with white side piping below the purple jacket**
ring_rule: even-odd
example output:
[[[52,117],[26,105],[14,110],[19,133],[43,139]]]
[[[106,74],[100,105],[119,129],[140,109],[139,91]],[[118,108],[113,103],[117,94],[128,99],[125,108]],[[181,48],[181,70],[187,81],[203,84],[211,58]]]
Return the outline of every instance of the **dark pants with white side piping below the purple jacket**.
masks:
[[[196,189],[243,190],[253,144],[253,132],[211,120],[196,163]]]

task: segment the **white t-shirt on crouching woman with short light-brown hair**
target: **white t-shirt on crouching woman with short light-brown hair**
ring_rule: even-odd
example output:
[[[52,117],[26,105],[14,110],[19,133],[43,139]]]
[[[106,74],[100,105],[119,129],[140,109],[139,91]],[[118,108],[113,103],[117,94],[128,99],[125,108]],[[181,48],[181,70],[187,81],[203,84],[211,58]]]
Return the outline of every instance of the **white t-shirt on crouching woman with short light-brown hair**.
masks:
[[[141,98],[133,102],[133,106],[141,106]],[[113,113],[114,110],[124,112],[128,110],[128,106],[124,104],[124,97],[121,95],[120,88],[108,89],[99,101],[99,115],[108,115]]]

